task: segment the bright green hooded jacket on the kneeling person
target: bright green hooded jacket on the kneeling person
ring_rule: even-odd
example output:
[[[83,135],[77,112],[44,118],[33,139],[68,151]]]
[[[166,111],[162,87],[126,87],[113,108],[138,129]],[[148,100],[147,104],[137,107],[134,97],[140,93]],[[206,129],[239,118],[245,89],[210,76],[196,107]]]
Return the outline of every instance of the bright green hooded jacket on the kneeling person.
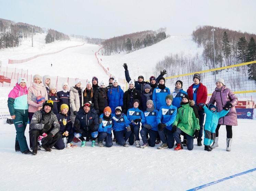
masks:
[[[176,125],[181,131],[194,136],[195,130],[200,130],[199,116],[197,109],[194,107],[195,101],[190,100],[188,104],[183,104],[178,108],[176,119],[173,125]]]

